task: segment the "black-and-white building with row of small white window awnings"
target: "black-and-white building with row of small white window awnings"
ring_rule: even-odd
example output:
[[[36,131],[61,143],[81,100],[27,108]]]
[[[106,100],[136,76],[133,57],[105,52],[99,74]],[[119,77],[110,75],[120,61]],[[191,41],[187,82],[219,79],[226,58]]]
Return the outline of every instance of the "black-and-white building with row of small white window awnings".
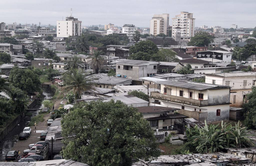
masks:
[[[228,51],[201,51],[201,52],[196,52],[196,58],[213,58],[213,59],[219,59],[222,61],[222,63],[229,63],[231,62],[232,59],[232,52]],[[214,66],[213,66],[214,67]]]

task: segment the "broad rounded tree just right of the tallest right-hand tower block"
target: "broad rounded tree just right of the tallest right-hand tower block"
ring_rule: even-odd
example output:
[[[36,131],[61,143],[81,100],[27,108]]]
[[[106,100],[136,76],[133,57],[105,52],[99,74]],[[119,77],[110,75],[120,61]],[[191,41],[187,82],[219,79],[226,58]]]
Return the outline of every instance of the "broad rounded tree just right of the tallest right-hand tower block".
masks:
[[[190,38],[190,42],[188,42],[188,46],[208,46],[208,44],[212,43],[214,37],[210,35],[208,32],[198,32],[194,37]]]

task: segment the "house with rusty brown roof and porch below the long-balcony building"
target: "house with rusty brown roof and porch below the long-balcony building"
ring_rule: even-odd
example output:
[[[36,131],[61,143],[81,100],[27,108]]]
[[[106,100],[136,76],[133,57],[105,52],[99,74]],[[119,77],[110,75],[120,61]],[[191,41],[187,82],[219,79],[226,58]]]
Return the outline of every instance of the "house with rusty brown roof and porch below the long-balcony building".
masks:
[[[180,134],[183,132],[183,120],[187,116],[174,113],[179,109],[171,107],[148,106],[137,107],[143,118],[148,121],[157,138],[157,142],[164,142],[171,132]]]

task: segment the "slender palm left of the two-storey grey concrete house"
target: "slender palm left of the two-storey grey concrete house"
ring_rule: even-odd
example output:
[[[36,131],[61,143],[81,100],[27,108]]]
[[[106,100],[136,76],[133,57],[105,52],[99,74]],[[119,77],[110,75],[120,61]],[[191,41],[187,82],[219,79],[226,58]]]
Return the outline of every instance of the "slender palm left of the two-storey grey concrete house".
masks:
[[[103,51],[95,50],[89,58],[91,58],[90,66],[92,67],[95,74],[99,73],[99,69],[104,65],[103,58],[100,56]]]

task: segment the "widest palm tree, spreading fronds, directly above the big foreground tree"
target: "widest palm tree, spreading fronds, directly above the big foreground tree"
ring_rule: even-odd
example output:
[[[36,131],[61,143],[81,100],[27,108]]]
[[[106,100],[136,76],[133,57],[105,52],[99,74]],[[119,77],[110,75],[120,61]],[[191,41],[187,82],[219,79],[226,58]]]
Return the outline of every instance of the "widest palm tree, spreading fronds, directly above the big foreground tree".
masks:
[[[72,92],[75,99],[81,99],[83,92],[92,91],[92,80],[78,70],[68,71],[64,74],[64,86],[61,88],[61,93]]]

